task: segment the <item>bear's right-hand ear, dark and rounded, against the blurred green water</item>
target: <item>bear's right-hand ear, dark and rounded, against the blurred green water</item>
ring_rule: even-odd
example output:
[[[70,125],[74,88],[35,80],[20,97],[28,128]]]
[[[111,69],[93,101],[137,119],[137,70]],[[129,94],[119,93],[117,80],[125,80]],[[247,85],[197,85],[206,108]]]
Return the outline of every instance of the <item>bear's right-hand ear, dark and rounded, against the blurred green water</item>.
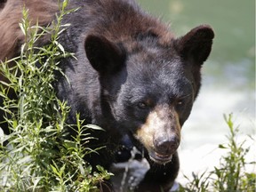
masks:
[[[192,59],[202,65],[212,50],[213,37],[212,28],[202,25],[193,28],[188,34],[175,40],[175,45],[183,59]]]

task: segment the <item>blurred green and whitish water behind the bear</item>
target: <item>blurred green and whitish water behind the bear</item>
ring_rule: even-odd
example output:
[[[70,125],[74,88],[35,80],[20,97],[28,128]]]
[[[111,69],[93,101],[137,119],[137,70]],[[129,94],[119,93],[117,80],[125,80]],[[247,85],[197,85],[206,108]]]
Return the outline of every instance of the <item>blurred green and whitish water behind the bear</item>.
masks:
[[[138,0],[149,13],[171,24],[176,36],[209,24],[215,32],[212,53],[204,63],[203,86],[191,116],[182,128],[182,174],[211,169],[220,163],[218,145],[227,142],[223,115],[233,113],[241,140],[255,151],[255,1]],[[213,168],[213,167],[212,167]],[[255,172],[255,167],[250,167]],[[184,179],[184,178],[183,178]],[[178,181],[180,181],[178,180]],[[182,182],[182,181],[181,181]]]

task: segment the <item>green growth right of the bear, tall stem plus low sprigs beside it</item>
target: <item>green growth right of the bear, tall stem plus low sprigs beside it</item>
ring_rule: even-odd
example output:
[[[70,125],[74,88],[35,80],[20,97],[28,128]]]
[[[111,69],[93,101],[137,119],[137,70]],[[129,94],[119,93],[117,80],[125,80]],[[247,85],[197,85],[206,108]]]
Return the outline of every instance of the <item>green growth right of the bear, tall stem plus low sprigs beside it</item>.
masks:
[[[228,149],[227,155],[220,158],[220,167],[214,167],[210,173],[204,172],[201,175],[193,173],[193,180],[190,180],[186,187],[181,187],[180,191],[256,191],[256,173],[245,172],[245,164],[256,164],[255,161],[251,163],[245,161],[244,156],[250,148],[244,148],[245,140],[237,143],[236,137],[239,130],[234,127],[232,115],[224,118],[230,135],[227,136],[227,145],[219,145],[221,149]]]

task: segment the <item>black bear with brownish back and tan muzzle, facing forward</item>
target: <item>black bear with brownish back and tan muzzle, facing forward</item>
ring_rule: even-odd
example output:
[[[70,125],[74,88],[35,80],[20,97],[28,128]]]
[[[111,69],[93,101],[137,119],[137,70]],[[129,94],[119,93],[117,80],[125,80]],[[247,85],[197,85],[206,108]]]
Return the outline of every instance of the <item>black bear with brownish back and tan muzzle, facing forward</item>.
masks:
[[[38,5],[30,9],[33,6]],[[60,44],[76,53],[77,60],[61,60],[69,82],[58,76],[53,85],[71,107],[68,123],[76,123],[79,113],[86,123],[106,130],[97,132],[95,144],[106,145],[105,150],[88,161],[108,168],[115,161],[112,152],[127,135],[150,164],[136,190],[168,191],[179,172],[180,129],[201,85],[200,69],[211,52],[212,28],[202,25],[176,38],[133,0],[73,0],[69,7],[80,9],[64,17],[63,23],[71,26],[60,35]],[[0,13],[2,26],[1,22]],[[8,30],[14,29],[5,28],[0,36]],[[19,50],[20,38],[9,52]],[[7,56],[5,52],[0,59]]]

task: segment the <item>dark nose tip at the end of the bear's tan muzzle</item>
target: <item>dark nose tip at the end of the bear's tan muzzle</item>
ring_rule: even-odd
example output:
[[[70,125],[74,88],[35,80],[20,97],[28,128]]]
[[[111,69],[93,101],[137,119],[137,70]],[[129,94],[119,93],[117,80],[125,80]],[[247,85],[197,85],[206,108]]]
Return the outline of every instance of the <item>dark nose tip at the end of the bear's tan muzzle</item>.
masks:
[[[172,155],[180,145],[180,140],[176,136],[170,138],[160,137],[154,140],[156,153],[161,155]]]

